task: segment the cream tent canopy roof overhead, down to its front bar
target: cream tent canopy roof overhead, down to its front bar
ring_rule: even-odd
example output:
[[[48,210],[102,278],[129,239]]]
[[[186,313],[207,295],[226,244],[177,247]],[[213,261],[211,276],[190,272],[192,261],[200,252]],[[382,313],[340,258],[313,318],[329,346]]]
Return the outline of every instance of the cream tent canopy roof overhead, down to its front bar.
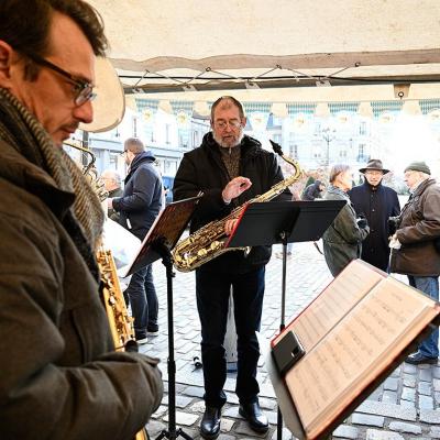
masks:
[[[133,90],[440,79],[438,0],[90,0]],[[255,86],[256,85],[256,86]]]

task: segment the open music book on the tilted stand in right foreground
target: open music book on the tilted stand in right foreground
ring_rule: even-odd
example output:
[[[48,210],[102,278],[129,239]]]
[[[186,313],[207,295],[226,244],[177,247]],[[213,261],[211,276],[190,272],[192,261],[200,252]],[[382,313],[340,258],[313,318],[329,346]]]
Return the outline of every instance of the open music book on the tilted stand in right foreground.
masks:
[[[287,428],[305,440],[331,433],[438,326],[439,315],[439,304],[420,290],[351,262],[271,342],[274,352],[293,332],[304,349],[284,374],[267,358]]]

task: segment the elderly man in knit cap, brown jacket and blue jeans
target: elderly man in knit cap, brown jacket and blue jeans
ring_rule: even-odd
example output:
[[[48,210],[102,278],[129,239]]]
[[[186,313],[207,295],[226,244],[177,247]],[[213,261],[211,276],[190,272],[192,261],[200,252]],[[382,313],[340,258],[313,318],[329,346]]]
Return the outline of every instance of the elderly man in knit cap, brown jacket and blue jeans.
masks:
[[[409,285],[439,300],[440,254],[435,241],[440,238],[440,187],[425,162],[405,168],[410,197],[402,209],[392,248],[391,270],[408,276]],[[436,364],[439,356],[439,329],[425,339],[406,362]]]

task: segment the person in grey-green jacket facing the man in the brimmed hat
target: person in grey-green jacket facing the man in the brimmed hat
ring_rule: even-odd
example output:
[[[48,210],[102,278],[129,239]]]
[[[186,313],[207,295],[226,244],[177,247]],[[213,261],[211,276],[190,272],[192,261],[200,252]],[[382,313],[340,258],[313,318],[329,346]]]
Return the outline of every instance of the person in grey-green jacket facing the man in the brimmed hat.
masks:
[[[361,256],[362,241],[370,228],[365,218],[356,218],[348,191],[351,189],[353,174],[349,165],[333,165],[330,170],[330,185],[326,200],[344,200],[346,204],[322,235],[323,255],[333,276],[352,261]]]

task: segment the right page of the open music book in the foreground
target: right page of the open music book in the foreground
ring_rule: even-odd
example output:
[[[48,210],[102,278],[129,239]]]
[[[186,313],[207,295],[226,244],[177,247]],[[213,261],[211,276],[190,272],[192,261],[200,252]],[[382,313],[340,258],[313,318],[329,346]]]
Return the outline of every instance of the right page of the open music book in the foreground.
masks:
[[[308,438],[330,425],[438,314],[436,302],[411,287],[391,277],[380,282],[286,374]]]

